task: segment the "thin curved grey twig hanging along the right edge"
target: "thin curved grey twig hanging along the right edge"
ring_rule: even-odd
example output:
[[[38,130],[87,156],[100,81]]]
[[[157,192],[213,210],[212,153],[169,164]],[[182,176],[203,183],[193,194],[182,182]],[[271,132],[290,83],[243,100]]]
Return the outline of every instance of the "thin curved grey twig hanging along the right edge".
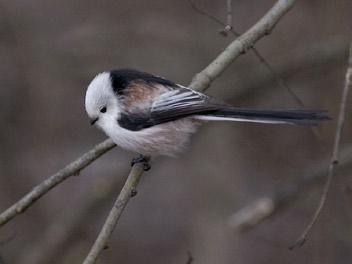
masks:
[[[326,178],[326,183],[324,186],[323,193],[320,198],[319,205],[316,209],[316,211],[313,214],[313,217],[307,227],[304,229],[303,233],[301,236],[296,240],[296,242],[289,247],[289,249],[294,249],[296,247],[301,247],[307,240],[307,236],[316,223],[328,196],[330,186],[332,179],[335,174],[335,169],[336,166],[339,163],[339,148],[340,148],[340,142],[341,142],[341,133],[345,121],[345,116],[346,116],[346,108],[347,108],[347,99],[348,99],[348,92],[350,88],[352,87],[352,42],[350,44],[350,55],[348,59],[348,67],[347,67],[347,72],[346,72],[346,79],[345,79],[345,85],[342,90],[342,97],[341,97],[341,103],[340,103],[340,111],[339,111],[339,116],[337,120],[337,126],[336,126],[336,132],[335,132],[335,140],[334,140],[334,146],[333,146],[333,151],[331,155],[331,160],[329,164],[329,169],[328,169],[328,175]]]

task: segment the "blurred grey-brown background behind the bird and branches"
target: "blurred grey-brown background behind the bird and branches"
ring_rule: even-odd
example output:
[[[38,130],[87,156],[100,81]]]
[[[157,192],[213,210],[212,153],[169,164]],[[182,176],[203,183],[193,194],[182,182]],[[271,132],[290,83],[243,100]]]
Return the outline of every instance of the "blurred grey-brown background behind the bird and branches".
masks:
[[[194,0],[226,21],[226,1]],[[275,3],[233,0],[244,32]],[[287,248],[315,210],[328,167],[352,28],[349,0],[297,1],[256,47],[303,101],[333,120],[309,128],[209,123],[177,158],[157,158],[100,263],[351,263],[351,109],[343,162],[304,247]],[[0,210],[105,139],[89,125],[96,73],[136,68],[181,84],[233,39],[188,0],[0,2]],[[207,93],[236,106],[301,108],[253,52]],[[81,263],[130,169],[115,148],[0,230],[0,263]],[[258,199],[275,213],[250,228],[238,211]],[[261,200],[262,201],[262,200]],[[240,211],[241,212],[241,211]],[[2,261],[2,262],[1,262]]]

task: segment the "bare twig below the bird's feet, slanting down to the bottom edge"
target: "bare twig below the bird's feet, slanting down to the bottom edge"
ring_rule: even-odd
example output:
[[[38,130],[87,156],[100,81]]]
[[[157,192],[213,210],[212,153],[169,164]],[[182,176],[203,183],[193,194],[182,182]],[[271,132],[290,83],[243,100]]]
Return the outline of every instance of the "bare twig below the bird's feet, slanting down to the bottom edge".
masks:
[[[142,163],[136,163],[132,167],[125,185],[118,195],[114,206],[112,207],[109,216],[106,218],[105,224],[99,233],[98,238],[95,240],[95,243],[83,264],[95,263],[100,253],[104,250],[104,248],[106,248],[110,235],[114,231],[123,210],[125,209],[130,198],[135,195],[135,190],[137,188],[138,182],[143,174],[143,167],[144,164]]]

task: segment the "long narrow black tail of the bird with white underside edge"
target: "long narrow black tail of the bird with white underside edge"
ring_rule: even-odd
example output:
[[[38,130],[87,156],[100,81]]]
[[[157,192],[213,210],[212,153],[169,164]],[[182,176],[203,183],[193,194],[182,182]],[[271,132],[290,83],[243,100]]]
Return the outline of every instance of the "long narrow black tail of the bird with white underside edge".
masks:
[[[261,110],[228,107],[197,116],[203,120],[227,120],[272,124],[317,125],[329,120],[325,110]]]

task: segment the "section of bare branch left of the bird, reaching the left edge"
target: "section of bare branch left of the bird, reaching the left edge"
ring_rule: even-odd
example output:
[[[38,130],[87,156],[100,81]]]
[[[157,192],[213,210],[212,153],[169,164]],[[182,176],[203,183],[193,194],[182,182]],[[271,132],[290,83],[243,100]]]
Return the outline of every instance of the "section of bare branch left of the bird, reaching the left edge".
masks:
[[[0,215],[0,227],[5,225],[15,216],[26,211],[35,201],[40,197],[60,184],[67,178],[73,175],[78,175],[81,170],[99,158],[101,155],[115,147],[115,143],[111,139],[107,139],[100,144],[96,145],[87,153],[68,164],[65,168],[59,170],[54,175],[47,178],[45,181],[34,187],[29,193],[27,193],[18,202],[9,207]]]

